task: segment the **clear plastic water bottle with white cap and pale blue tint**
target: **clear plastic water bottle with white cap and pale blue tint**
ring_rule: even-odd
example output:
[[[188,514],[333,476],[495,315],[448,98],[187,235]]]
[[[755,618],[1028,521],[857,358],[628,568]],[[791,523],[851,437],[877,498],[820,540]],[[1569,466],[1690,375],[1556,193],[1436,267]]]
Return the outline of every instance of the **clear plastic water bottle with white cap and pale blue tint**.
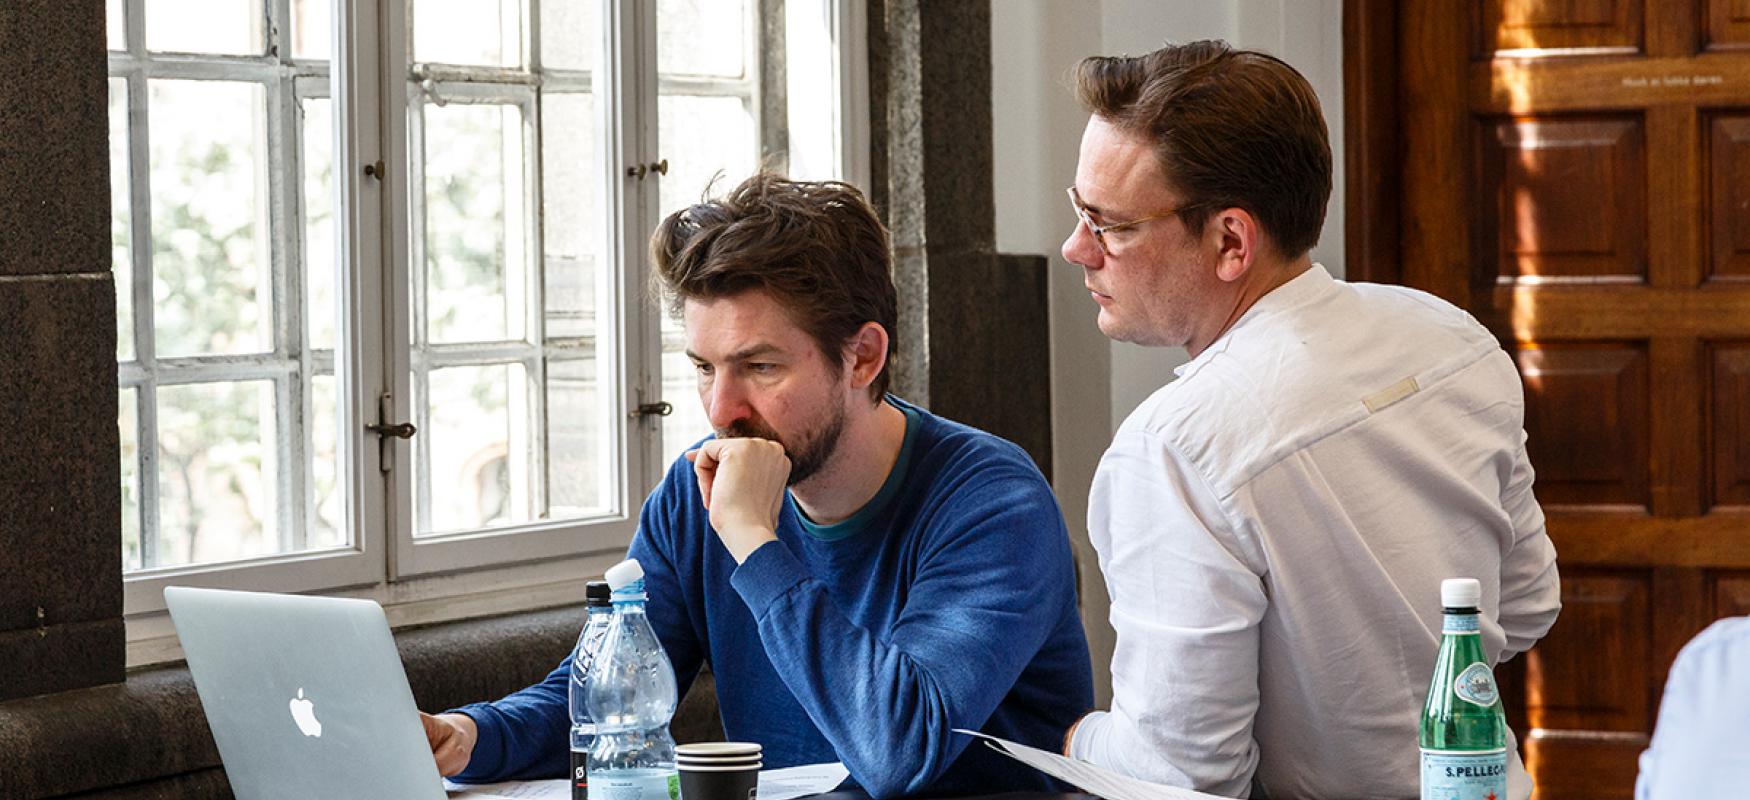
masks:
[[[590,800],[676,800],[674,665],[644,616],[644,567],[635,558],[607,571],[614,616],[588,676]]]

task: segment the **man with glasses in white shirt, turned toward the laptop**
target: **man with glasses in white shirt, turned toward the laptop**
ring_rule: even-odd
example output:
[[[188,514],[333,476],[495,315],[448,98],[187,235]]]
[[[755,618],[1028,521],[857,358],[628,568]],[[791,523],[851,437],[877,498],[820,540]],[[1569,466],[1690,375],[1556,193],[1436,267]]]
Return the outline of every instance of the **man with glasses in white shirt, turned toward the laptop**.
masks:
[[[1064,257],[1106,336],[1190,361],[1094,476],[1113,704],[1064,749],[1227,796],[1414,796],[1440,579],[1482,581],[1491,667],[1561,607],[1519,373],[1460,308],[1311,261],[1332,156],[1283,61],[1169,46],[1076,91]]]

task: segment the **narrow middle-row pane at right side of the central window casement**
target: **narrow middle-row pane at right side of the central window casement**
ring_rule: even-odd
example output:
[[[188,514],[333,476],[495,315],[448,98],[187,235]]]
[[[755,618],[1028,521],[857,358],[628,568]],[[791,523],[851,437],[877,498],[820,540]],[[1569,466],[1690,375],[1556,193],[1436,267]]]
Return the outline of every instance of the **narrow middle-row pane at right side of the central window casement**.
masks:
[[[595,103],[590,95],[555,93],[541,103],[546,336],[593,336],[600,282],[595,184],[602,170]]]

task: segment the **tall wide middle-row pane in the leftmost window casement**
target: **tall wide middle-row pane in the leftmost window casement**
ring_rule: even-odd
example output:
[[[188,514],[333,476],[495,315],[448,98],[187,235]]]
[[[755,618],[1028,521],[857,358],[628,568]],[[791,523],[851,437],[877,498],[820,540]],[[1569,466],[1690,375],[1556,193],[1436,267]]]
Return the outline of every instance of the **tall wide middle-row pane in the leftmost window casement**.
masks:
[[[152,81],[159,357],[273,348],[259,84]]]

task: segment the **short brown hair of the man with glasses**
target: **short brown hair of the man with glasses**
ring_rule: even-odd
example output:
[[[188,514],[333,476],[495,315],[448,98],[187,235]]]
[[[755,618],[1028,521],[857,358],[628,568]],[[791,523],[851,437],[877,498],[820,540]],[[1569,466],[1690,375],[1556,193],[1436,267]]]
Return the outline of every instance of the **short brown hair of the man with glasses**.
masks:
[[[1094,56],[1076,98],[1120,131],[1153,142],[1199,229],[1244,208],[1286,257],[1318,243],[1330,201],[1330,135],[1307,79],[1274,56],[1206,40],[1146,56]]]

